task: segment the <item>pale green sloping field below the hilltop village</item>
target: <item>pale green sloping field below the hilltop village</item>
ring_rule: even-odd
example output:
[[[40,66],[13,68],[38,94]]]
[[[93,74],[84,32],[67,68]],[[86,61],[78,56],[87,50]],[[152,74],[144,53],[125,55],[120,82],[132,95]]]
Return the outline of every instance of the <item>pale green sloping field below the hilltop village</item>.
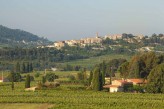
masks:
[[[129,55],[119,55],[119,54],[110,54],[110,55],[103,55],[103,56],[98,56],[98,57],[91,57],[88,59],[79,59],[79,60],[75,60],[75,61],[70,61],[70,62],[65,62],[65,63],[58,63],[58,64],[70,64],[70,65],[79,65],[82,67],[91,67],[94,66],[95,64],[101,63],[104,60],[105,61],[109,61],[112,59],[118,59],[118,58],[123,58],[123,59],[127,59],[129,60],[131,58],[131,56]]]

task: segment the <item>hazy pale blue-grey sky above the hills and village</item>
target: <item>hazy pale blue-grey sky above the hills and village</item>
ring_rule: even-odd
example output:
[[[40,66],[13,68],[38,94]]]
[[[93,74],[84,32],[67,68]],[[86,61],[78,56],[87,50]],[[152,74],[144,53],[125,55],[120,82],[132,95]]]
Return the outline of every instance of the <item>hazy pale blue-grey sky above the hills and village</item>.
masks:
[[[164,0],[0,0],[0,25],[51,41],[164,33]]]

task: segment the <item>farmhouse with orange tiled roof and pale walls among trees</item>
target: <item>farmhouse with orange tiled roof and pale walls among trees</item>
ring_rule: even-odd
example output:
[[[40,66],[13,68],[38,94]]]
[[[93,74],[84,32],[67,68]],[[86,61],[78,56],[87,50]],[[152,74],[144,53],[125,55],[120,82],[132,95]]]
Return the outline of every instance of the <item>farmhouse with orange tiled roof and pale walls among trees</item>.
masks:
[[[132,82],[128,82],[126,80],[114,80],[111,85],[105,85],[103,88],[109,88],[109,92],[123,92],[125,87],[132,85]]]

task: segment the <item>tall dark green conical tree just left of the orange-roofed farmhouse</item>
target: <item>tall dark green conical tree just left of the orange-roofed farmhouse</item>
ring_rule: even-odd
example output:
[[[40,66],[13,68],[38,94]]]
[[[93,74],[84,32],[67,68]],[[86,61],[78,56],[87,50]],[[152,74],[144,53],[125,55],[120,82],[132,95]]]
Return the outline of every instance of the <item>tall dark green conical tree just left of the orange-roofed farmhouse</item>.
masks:
[[[95,91],[102,90],[102,74],[100,73],[100,68],[96,67],[93,72],[93,79],[92,79],[92,89]]]

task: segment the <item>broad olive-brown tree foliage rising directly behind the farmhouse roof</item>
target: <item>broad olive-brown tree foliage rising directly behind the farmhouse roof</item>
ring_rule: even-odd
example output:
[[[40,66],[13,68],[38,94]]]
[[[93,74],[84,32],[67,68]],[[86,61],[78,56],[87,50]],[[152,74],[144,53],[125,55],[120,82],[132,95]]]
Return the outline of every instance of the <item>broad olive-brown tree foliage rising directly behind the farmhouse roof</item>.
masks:
[[[147,78],[150,71],[164,62],[164,55],[154,52],[142,53],[131,58],[130,62],[123,63],[118,71],[124,78]]]

